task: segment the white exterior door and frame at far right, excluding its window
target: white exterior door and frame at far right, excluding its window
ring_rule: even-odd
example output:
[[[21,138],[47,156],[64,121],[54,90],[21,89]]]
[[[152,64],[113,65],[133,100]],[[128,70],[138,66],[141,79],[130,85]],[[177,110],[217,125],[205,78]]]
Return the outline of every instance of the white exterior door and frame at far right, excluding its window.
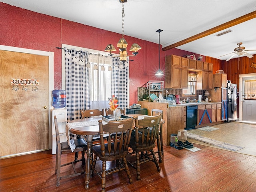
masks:
[[[256,80],[256,73],[239,75],[239,121],[256,123],[256,100],[246,100],[245,82]]]

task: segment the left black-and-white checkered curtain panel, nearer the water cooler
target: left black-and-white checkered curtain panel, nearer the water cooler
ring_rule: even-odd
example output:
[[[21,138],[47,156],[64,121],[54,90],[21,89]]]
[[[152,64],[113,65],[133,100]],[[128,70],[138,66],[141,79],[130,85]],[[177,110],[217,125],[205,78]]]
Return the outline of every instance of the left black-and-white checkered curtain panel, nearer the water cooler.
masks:
[[[90,107],[90,72],[85,67],[88,51],[65,50],[66,108],[68,122],[80,118],[80,109]]]

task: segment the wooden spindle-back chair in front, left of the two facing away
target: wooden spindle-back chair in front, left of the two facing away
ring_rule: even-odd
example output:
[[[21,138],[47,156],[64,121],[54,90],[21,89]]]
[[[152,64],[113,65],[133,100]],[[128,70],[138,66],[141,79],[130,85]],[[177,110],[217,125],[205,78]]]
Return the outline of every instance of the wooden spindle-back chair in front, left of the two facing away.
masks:
[[[94,154],[92,170],[101,179],[102,192],[105,192],[106,188],[106,175],[115,172],[125,170],[129,182],[132,183],[132,176],[126,161],[126,155],[128,154],[128,144],[136,118],[138,119],[138,116],[126,120],[109,121],[105,125],[102,124],[102,120],[99,120],[100,145],[92,146],[92,153]],[[104,142],[104,132],[109,134],[107,142]],[[118,132],[122,132],[120,137],[117,136]],[[111,133],[115,133],[114,139],[112,140],[110,138]],[[97,158],[102,161],[102,170],[100,171],[97,171],[95,168]],[[122,160],[120,161],[120,159]],[[113,160],[116,160],[116,167],[106,170],[106,162]]]

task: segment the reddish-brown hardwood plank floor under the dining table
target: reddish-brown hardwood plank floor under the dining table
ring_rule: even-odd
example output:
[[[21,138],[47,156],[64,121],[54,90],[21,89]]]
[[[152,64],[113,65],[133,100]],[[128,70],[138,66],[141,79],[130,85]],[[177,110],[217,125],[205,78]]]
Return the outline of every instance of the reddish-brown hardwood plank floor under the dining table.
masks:
[[[230,152],[200,144],[197,152],[176,150],[164,146],[164,160],[158,172],[153,162],[141,165],[141,180],[130,168],[133,183],[126,173],[106,177],[106,191],[111,192],[255,192],[256,157]],[[62,162],[72,160],[73,154],[62,156]],[[128,160],[135,160],[128,155]],[[101,162],[98,160],[98,168]],[[77,164],[80,168],[81,164]],[[111,166],[111,163],[107,164]],[[68,171],[68,170],[65,170]],[[56,187],[55,155],[44,151],[0,160],[1,192],[96,192],[100,179],[94,174],[90,189],[84,189],[84,175],[60,180]]]

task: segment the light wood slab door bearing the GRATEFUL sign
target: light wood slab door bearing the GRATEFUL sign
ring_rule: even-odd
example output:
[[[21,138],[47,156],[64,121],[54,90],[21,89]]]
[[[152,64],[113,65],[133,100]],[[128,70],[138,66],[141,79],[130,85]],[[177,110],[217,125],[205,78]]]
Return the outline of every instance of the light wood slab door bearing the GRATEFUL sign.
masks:
[[[49,149],[49,56],[0,50],[0,67],[0,157]]]

